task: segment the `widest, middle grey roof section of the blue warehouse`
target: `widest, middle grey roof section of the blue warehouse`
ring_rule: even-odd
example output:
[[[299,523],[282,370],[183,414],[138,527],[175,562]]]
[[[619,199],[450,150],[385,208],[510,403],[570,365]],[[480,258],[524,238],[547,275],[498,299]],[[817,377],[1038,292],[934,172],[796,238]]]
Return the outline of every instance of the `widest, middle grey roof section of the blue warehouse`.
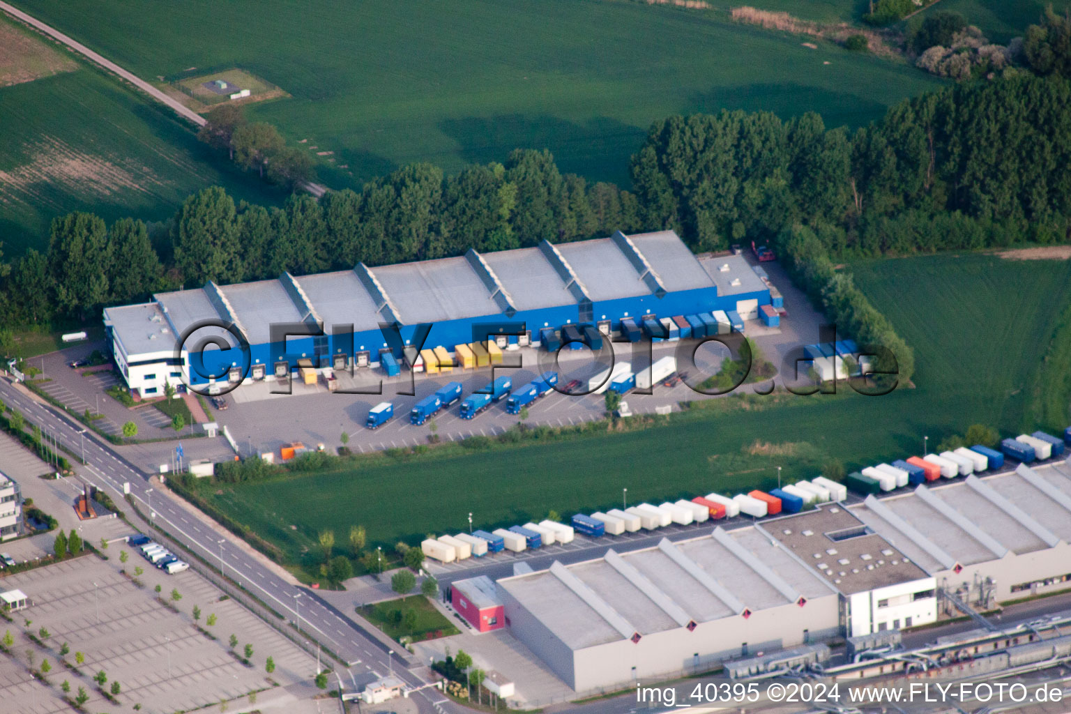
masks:
[[[398,319],[406,323],[439,322],[481,315],[498,315],[486,286],[465,258],[373,268]]]

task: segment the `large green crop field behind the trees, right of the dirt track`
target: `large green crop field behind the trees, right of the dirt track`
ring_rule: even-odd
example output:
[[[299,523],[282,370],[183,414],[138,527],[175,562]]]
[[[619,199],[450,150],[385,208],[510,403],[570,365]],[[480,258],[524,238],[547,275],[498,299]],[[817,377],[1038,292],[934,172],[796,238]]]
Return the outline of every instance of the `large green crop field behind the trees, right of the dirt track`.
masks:
[[[417,161],[455,171],[518,147],[627,184],[647,128],[670,115],[814,110],[829,125],[859,125],[938,82],[724,12],[637,2],[16,4],[141,77],[238,66],[282,88],[292,98],[251,105],[250,116],[334,152],[338,168],[323,178],[335,186]]]

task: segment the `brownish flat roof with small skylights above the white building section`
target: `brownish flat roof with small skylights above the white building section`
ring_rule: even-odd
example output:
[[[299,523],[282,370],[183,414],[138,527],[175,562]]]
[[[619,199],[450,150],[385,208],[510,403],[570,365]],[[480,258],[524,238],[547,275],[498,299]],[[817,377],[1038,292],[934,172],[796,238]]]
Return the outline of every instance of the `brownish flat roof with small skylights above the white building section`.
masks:
[[[891,543],[838,504],[769,520],[763,529],[848,595],[926,577]]]

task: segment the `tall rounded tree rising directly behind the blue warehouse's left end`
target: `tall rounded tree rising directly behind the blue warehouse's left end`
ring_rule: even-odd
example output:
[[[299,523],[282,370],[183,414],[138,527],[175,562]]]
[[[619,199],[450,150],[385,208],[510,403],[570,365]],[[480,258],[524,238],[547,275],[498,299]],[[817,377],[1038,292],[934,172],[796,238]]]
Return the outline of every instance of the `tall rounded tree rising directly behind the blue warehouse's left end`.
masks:
[[[235,201],[220,186],[203,188],[182,203],[174,242],[184,283],[199,287],[206,280],[242,278]]]

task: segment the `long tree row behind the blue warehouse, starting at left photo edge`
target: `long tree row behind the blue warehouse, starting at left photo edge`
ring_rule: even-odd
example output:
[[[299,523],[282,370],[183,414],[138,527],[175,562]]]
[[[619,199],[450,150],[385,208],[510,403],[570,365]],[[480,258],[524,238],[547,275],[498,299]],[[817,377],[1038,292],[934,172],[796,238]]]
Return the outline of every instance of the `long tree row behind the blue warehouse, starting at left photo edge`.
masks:
[[[236,155],[238,150],[236,150]],[[190,196],[166,222],[91,213],[52,221],[48,249],[0,271],[0,322],[87,318],[152,292],[573,241],[640,227],[636,197],[562,174],[547,151],[444,176],[413,164],[361,191],[295,194],[282,207],[238,203],[221,187]]]

